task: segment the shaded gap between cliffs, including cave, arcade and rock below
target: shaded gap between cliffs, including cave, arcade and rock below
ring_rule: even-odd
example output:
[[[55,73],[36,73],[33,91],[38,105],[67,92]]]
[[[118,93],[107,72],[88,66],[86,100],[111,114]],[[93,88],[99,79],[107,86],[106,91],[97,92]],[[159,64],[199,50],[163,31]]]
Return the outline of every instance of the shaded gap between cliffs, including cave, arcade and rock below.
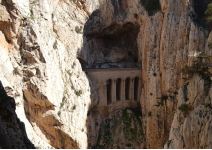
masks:
[[[88,144],[93,148],[141,148],[141,61],[136,42],[140,26],[131,21],[104,26],[101,17],[101,10],[96,10],[85,24],[79,55],[91,87]]]

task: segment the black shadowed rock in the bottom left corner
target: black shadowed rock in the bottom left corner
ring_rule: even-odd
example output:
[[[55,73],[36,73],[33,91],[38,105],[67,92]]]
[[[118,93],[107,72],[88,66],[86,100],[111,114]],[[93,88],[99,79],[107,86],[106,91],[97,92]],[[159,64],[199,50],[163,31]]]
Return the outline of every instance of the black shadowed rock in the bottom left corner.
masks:
[[[15,100],[8,96],[0,81],[0,148],[35,148],[27,138],[24,123],[16,113]]]

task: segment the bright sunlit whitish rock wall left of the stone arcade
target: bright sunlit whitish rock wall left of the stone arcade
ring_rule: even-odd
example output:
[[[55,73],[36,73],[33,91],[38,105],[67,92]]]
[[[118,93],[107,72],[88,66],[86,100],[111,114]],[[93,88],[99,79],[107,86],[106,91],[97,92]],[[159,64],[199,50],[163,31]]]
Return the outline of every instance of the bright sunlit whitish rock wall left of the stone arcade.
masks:
[[[17,116],[37,148],[87,147],[90,87],[77,53],[95,5],[1,1],[0,80],[12,89]]]

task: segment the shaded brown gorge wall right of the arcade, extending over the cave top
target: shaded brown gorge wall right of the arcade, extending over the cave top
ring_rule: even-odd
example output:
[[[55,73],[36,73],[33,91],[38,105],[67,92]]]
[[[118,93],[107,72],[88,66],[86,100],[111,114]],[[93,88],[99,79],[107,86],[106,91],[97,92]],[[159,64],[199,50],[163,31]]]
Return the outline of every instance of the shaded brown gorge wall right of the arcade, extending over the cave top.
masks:
[[[205,4],[183,0],[161,0],[159,6],[156,1],[152,3],[104,1],[98,27],[91,29],[95,33],[111,24],[129,22],[140,26],[137,43],[142,61],[141,109],[146,147],[211,147],[211,71],[206,67],[211,61],[202,62],[202,56],[211,57],[211,49],[209,31],[199,18]],[[189,130],[190,126],[195,128]]]

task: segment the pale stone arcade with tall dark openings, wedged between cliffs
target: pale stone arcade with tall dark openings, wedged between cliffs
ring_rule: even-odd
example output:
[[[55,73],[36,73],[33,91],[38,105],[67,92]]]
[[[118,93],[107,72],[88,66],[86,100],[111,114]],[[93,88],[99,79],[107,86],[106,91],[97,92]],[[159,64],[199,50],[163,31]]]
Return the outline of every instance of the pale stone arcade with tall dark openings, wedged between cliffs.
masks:
[[[98,89],[98,107],[108,113],[137,107],[141,89],[140,71],[139,68],[86,69]]]

